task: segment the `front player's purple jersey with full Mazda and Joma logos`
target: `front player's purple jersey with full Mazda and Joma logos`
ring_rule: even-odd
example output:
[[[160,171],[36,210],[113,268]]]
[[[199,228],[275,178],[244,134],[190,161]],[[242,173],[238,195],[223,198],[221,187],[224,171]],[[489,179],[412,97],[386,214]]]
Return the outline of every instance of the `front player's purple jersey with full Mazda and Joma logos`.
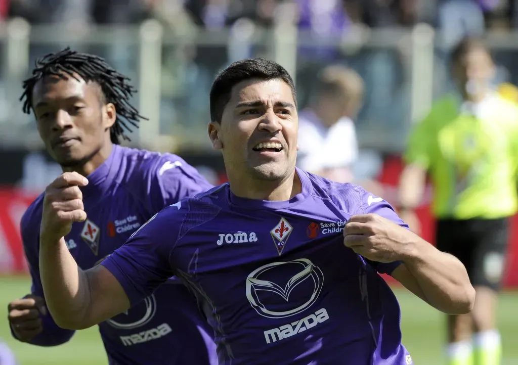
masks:
[[[401,263],[343,245],[354,214],[407,226],[361,187],[297,173],[303,189],[289,201],[239,198],[228,184],[184,199],[102,265],[132,303],[177,274],[214,330],[220,364],[411,364],[397,299],[378,274]]]

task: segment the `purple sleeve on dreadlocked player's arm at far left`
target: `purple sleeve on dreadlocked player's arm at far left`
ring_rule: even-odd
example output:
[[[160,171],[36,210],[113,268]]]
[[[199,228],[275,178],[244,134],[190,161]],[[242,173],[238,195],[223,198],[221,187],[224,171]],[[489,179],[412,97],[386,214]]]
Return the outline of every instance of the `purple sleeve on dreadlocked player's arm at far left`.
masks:
[[[45,298],[39,275],[39,221],[31,222],[30,217],[31,210],[27,210],[20,222],[20,235],[22,237],[23,250],[25,258],[27,259],[28,269],[31,274],[31,293],[35,296]],[[41,315],[41,321],[43,324],[43,332],[30,341],[33,345],[61,345],[70,340],[75,333],[73,330],[63,329],[57,326],[48,311],[46,315]],[[11,334],[16,338],[12,330]]]

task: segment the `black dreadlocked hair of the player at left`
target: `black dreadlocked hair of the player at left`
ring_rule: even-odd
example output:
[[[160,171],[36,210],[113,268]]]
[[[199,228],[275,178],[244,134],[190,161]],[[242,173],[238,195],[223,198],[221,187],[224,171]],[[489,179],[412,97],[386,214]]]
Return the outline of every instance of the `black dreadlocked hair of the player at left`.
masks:
[[[119,144],[121,138],[130,141],[127,133],[132,132],[131,126],[138,128],[140,119],[147,120],[130,104],[130,98],[137,90],[128,83],[130,78],[114,70],[102,57],[78,53],[69,47],[57,53],[50,53],[38,59],[32,71],[32,77],[23,81],[23,112],[31,113],[32,94],[34,85],[44,77],[56,76],[63,80],[67,76],[78,80],[80,76],[85,82],[93,81],[99,84],[103,91],[105,103],[112,103],[117,111],[115,123],[110,128],[110,139]]]

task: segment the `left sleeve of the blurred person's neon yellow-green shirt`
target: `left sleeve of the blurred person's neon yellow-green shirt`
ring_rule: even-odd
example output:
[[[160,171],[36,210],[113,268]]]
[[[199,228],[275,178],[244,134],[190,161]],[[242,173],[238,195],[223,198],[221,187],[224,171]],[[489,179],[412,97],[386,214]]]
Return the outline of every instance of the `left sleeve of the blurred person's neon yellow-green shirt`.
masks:
[[[431,156],[431,141],[435,137],[434,130],[431,128],[431,118],[430,114],[410,129],[407,148],[403,155],[405,163],[418,164],[425,169],[430,166],[433,158]]]

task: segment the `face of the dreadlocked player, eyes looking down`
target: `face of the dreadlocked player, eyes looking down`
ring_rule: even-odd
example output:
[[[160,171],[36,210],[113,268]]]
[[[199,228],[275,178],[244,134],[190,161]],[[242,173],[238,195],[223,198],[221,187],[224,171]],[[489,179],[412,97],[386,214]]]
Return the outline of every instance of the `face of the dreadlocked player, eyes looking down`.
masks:
[[[116,118],[113,105],[102,103],[100,87],[79,80],[46,77],[33,90],[39,135],[63,167],[88,162],[109,141],[109,128]]]

